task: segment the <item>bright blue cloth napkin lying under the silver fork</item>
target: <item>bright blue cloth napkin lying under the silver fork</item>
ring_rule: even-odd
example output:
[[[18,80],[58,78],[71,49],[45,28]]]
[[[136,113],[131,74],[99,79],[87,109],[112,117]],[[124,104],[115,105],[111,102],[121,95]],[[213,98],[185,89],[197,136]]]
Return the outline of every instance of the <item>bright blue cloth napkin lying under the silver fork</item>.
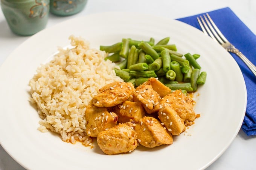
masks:
[[[256,65],[256,36],[254,33],[245,26],[230,8],[210,11],[208,14],[229,42],[235,45],[239,51]],[[177,20],[201,30],[196,18],[199,15],[202,14],[179,18]],[[256,77],[238,56],[233,53],[231,55],[242,71],[247,89],[247,108],[242,129],[247,135],[256,135]]]

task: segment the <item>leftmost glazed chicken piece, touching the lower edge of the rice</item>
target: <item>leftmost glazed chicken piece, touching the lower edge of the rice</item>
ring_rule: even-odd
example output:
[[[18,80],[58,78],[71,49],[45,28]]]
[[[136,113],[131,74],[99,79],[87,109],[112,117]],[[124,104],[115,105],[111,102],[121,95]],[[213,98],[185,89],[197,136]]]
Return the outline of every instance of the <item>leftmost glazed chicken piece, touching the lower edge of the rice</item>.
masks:
[[[86,133],[90,137],[97,137],[98,133],[116,126],[118,116],[108,112],[105,107],[89,104],[85,111]]]

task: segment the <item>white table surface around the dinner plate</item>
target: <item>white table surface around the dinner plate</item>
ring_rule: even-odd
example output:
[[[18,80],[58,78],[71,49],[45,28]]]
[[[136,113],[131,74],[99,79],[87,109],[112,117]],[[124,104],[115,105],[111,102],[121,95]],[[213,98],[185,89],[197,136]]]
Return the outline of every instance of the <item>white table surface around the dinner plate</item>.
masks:
[[[79,14],[69,17],[57,17],[50,14],[47,27],[70,18],[99,12],[139,11],[151,13],[154,11],[155,15],[175,19],[224,7],[230,7],[245,25],[256,34],[256,0],[88,0],[87,6]],[[29,36],[14,35],[9,29],[3,13],[0,12],[0,65],[15,48],[28,38]],[[255,158],[256,136],[248,137],[240,130],[229,148],[207,169],[255,170]],[[0,170],[23,169],[0,145]]]

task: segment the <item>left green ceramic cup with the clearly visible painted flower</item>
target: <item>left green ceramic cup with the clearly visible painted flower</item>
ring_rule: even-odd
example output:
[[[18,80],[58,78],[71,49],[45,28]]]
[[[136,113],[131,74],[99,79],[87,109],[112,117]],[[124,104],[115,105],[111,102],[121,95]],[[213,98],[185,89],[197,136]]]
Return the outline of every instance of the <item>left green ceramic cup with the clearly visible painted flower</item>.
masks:
[[[6,21],[17,35],[33,35],[46,27],[50,0],[1,0]]]

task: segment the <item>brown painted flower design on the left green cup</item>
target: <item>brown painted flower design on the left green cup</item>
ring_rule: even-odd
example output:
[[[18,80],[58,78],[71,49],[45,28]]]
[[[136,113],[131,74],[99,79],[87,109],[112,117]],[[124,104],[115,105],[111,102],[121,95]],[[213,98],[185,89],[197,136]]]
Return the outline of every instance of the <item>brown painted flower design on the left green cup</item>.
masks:
[[[49,11],[49,3],[47,0],[35,0],[37,5],[30,8],[30,18],[40,17],[43,18]]]

